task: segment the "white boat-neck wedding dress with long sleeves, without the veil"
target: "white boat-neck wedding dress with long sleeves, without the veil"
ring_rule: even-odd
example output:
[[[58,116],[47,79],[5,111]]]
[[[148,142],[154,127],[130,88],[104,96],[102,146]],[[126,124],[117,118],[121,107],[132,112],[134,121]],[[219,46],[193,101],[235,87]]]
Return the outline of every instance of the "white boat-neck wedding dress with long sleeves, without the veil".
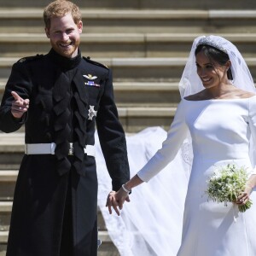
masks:
[[[188,132],[194,158],[177,256],[256,255],[256,189],[250,195],[253,206],[246,212],[239,212],[233,203],[224,206],[224,203],[213,202],[206,194],[207,180],[217,168],[235,164],[255,174],[249,142],[253,137],[256,143],[256,96],[203,101],[182,99],[162,148],[137,175],[148,182],[160,172],[174,159]],[[172,183],[175,180],[170,181],[170,186]]]

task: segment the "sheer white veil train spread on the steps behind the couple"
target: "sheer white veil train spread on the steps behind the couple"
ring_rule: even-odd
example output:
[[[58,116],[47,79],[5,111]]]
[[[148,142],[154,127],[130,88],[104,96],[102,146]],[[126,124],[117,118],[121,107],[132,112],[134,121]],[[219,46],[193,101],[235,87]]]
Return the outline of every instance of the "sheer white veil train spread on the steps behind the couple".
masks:
[[[160,127],[147,128],[127,136],[131,177],[154,155],[166,139]],[[184,147],[183,147],[184,148]],[[98,205],[109,236],[121,256],[175,256],[180,245],[183,204],[190,166],[182,149],[175,160],[148,183],[132,190],[121,216],[109,215],[105,207],[111,190],[105,160],[96,134],[96,165],[99,182]]]

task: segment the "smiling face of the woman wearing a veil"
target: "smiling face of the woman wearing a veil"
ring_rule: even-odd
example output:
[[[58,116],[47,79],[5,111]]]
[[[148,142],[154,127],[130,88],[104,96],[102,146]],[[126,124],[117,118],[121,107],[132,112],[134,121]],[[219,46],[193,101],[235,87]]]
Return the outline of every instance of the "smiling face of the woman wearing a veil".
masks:
[[[218,62],[210,61],[203,51],[200,51],[195,56],[195,59],[197,74],[206,89],[228,82],[227,70],[230,67],[229,61],[222,66]]]

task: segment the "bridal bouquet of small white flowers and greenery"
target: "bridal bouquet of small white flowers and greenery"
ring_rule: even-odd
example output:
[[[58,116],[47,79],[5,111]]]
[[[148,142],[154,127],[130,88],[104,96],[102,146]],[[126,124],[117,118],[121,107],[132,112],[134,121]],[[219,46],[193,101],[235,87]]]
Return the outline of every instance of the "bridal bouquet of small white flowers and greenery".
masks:
[[[207,181],[207,195],[213,201],[227,202],[236,201],[237,197],[245,189],[248,174],[243,167],[228,165],[216,170]],[[248,200],[245,205],[238,206],[240,212],[245,212],[252,206],[253,202]]]

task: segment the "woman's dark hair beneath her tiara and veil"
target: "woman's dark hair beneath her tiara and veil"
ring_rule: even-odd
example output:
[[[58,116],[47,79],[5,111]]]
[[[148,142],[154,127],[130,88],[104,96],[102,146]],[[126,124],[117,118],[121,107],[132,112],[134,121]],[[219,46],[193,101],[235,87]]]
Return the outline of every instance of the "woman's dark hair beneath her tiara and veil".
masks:
[[[227,61],[230,61],[229,55],[224,53],[224,51],[217,49],[211,45],[207,45],[207,44],[198,45],[197,48],[195,49],[195,55],[197,55],[201,51],[207,56],[207,58],[210,61],[215,61],[219,65],[224,66],[227,63]],[[233,80],[231,68],[229,68],[227,75],[228,75],[228,79]]]

